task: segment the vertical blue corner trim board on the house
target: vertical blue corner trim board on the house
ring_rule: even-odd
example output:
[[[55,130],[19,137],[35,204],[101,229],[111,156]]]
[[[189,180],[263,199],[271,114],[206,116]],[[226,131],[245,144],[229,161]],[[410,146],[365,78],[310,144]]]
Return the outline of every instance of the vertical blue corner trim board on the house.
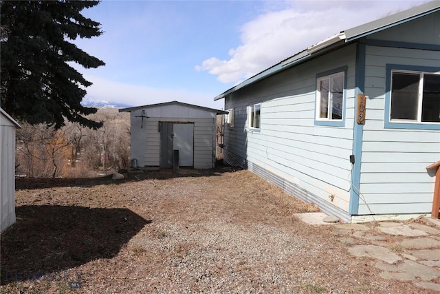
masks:
[[[364,125],[357,123],[358,94],[364,94],[365,87],[365,54],[366,45],[358,41],[356,45],[356,76],[355,76],[355,117],[353,120],[353,160],[351,166],[351,187],[349,213],[358,215],[360,199],[360,172],[362,162],[362,140],[364,136]],[[354,162],[353,162],[354,161]]]

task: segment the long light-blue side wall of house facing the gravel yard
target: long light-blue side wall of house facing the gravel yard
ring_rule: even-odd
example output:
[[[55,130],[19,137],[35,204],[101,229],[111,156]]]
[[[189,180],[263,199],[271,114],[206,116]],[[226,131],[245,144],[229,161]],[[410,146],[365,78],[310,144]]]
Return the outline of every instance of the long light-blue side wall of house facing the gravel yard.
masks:
[[[343,66],[348,67],[344,126],[314,125],[316,74]],[[320,202],[333,195],[331,203],[348,211],[354,75],[355,46],[350,45],[230,94],[225,109],[234,108],[235,120],[234,128],[225,128],[225,161],[261,167]],[[248,106],[256,103],[261,103],[261,129],[252,130]]]

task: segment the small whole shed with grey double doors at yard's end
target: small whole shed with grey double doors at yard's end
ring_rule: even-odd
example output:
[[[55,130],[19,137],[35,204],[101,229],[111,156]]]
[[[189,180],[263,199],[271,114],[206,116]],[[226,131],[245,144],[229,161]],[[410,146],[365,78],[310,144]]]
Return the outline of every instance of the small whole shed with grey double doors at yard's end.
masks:
[[[228,112],[178,101],[119,112],[131,113],[132,167],[214,167],[217,114]]]

